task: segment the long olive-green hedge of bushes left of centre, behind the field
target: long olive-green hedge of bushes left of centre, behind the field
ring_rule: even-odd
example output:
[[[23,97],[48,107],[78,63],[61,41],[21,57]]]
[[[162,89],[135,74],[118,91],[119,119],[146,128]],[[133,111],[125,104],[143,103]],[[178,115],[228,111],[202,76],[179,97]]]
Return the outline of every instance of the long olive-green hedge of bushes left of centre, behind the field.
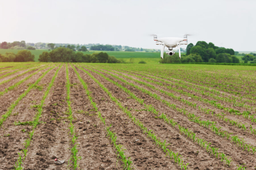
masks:
[[[120,60],[107,53],[83,54],[82,52],[75,53],[70,48],[59,47],[51,52],[43,52],[39,55],[40,62],[83,62],[83,63],[121,63]]]

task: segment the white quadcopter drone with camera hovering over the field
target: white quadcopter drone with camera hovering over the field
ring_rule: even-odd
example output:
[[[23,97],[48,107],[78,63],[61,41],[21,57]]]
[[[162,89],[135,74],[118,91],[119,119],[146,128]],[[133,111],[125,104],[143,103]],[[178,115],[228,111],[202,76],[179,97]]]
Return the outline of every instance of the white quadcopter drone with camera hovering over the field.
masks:
[[[164,57],[164,48],[165,46],[168,47],[168,54],[169,56],[173,56],[175,54],[174,50],[172,48],[180,45],[187,45],[187,34],[184,34],[183,38],[178,37],[164,37],[164,38],[157,38],[157,35],[154,35],[154,41],[156,41],[156,45],[162,45],[161,48],[161,58]],[[180,48],[179,48],[179,59],[180,59]]]

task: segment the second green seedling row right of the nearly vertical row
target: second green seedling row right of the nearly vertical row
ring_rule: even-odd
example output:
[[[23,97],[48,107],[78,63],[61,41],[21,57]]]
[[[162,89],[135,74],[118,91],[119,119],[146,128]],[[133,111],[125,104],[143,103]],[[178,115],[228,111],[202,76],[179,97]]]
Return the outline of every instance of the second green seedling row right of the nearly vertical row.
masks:
[[[167,148],[168,145],[170,144],[166,144],[166,141],[161,142],[161,139],[159,137],[157,137],[155,135],[155,133],[153,133],[153,130],[148,130],[143,123],[140,122],[139,119],[137,119],[136,117],[132,116],[131,112],[126,108],[123,107],[123,105],[116,99],[116,97],[112,96],[111,92],[103,85],[101,84],[96,78],[94,78],[94,76],[92,76],[88,71],[84,70],[83,68],[77,66],[79,69],[81,69],[82,71],[84,71],[85,73],[87,73],[110,97],[110,99],[116,103],[117,106],[119,106],[119,108],[125,112],[127,114],[127,116],[129,118],[131,118],[131,120],[141,128],[141,130],[143,131],[143,133],[147,133],[148,137],[151,137],[151,139],[155,142],[156,146],[159,146],[162,148],[162,150],[164,151],[164,153],[166,153],[166,156],[168,156],[170,158],[170,160],[174,159],[175,163],[179,163],[179,166],[181,167],[181,170],[187,169],[187,164],[185,164],[182,160],[182,156],[178,155],[177,153],[174,153],[171,149]]]

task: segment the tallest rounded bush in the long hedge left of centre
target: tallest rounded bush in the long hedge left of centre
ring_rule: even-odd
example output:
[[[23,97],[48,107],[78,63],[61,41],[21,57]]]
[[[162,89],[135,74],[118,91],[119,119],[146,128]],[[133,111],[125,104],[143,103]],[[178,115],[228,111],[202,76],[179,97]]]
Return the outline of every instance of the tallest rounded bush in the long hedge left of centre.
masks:
[[[52,50],[50,53],[51,62],[71,62],[71,58],[75,55],[75,52],[69,48],[58,47]]]

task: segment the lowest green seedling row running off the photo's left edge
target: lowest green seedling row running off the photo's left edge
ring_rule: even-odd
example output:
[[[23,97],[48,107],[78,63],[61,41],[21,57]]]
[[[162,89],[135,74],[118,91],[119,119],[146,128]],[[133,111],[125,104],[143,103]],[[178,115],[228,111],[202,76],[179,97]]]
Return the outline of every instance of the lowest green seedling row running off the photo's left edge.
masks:
[[[54,67],[55,67],[55,66],[54,66]],[[36,82],[35,82],[34,84],[31,84],[31,85],[28,87],[28,89],[27,89],[24,93],[22,93],[22,94],[18,97],[18,99],[17,99],[16,101],[14,101],[14,102],[11,104],[11,106],[7,109],[7,112],[6,112],[5,114],[3,114],[2,117],[1,117],[1,119],[0,119],[0,127],[2,126],[3,122],[11,115],[11,112],[13,111],[13,109],[15,108],[15,106],[19,103],[19,101],[20,101],[21,99],[23,99],[23,97],[25,97],[25,96],[28,94],[28,92],[30,92],[30,90],[31,90],[34,86],[36,86],[36,84],[38,84],[38,83],[41,81],[41,79],[42,79],[51,69],[53,69],[54,67],[48,69],[48,71],[46,71],[42,76],[40,76],[40,78],[38,78],[38,80],[36,80]]]

